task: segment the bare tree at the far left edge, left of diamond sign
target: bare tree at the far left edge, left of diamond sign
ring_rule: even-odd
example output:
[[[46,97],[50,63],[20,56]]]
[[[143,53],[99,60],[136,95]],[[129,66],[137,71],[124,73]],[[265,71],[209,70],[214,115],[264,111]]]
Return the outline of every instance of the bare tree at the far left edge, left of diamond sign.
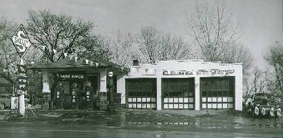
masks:
[[[8,19],[0,18],[0,77],[14,83],[17,51],[12,46],[11,37],[17,27]]]

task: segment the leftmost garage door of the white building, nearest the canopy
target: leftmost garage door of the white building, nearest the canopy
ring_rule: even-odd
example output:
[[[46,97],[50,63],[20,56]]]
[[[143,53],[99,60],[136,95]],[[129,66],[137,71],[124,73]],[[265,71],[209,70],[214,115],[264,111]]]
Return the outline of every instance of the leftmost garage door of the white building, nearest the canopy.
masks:
[[[126,79],[128,108],[156,109],[156,79]]]

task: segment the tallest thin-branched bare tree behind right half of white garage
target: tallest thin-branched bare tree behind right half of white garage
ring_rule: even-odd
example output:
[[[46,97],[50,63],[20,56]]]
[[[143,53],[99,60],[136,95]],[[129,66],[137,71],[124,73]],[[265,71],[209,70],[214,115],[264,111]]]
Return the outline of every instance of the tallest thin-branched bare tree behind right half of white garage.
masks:
[[[243,72],[246,72],[253,59],[248,49],[237,43],[239,26],[240,23],[234,25],[232,14],[226,11],[224,3],[213,8],[197,4],[195,13],[188,16],[189,34],[198,46],[202,59],[224,63],[242,62]]]

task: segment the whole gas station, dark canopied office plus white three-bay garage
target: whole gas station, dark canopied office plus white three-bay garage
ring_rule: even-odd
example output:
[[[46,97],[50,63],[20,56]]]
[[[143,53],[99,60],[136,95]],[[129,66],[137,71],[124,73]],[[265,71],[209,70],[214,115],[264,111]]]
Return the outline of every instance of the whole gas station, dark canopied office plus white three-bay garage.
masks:
[[[242,63],[135,61],[132,67],[123,68],[97,57],[90,60],[95,63],[63,59],[31,67],[42,72],[43,93],[51,109],[103,108],[108,103],[107,74],[113,72],[115,104],[121,108],[242,110]]]

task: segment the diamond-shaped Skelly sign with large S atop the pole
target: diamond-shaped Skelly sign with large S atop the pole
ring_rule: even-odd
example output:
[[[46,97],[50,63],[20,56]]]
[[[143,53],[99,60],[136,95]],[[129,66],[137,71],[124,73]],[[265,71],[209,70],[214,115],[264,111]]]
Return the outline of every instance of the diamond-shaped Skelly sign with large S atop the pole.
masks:
[[[23,28],[23,25],[20,25],[17,29],[17,32],[15,32],[12,36],[12,43],[19,53],[19,57],[22,58],[28,51],[28,48],[30,48],[31,46],[30,39],[28,39],[26,30]]]

